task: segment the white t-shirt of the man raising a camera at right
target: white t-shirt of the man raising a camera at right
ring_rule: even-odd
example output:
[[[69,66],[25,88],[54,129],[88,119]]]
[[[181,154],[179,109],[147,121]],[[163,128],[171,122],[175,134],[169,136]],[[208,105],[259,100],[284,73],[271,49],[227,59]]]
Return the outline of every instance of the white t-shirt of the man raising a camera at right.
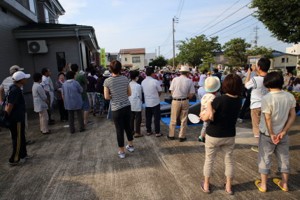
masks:
[[[262,97],[269,93],[269,90],[266,90],[266,87],[264,87],[264,76],[251,78],[249,82],[246,83],[246,88],[248,90],[252,89],[250,109],[261,108]]]

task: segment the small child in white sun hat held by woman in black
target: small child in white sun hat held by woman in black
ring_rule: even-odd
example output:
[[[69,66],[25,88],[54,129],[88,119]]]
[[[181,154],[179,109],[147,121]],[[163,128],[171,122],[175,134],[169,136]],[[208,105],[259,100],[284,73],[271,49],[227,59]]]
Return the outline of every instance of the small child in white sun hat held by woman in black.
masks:
[[[206,127],[208,126],[210,120],[213,121],[213,107],[211,103],[213,99],[215,99],[215,93],[220,88],[220,80],[216,76],[211,76],[206,78],[203,89],[207,92],[201,99],[201,110],[200,110],[200,118],[202,119],[203,115],[209,115],[209,120],[207,122],[203,122],[203,127],[201,130],[201,134],[198,137],[199,142],[205,143],[205,135],[206,135]]]

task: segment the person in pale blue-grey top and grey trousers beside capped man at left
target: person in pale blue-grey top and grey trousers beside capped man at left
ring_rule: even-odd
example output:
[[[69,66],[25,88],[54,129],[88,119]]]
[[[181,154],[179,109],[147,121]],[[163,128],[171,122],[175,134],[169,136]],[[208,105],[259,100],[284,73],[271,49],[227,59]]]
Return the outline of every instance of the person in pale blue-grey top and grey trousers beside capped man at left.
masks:
[[[48,129],[48,100],[45,94],[45,90],[42,85],[41,73],[34,73],[34,85],[32,86],[32,96],[34,97],[34,112],[40,115],[41,132],[43,134],[51,134]]]

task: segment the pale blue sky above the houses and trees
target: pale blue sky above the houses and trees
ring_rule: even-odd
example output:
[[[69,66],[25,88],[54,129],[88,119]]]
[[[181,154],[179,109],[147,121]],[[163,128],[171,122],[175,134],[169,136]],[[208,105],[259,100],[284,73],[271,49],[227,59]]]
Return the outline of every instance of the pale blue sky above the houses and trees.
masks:
[[[250,3],[250,0],[59,0],[59,2],[66,10],[65,15],[59,17],[59,23],[94,27],[98,43],[101,48],[106,48],[106,52],[119,52],[121,48],[146,48],[146,52],[155,52],[157,49],[158,54],[158,47],[161,46],[160,53],[167,58],[172,57],[171,33],[174,15],[179,18],[175,40],[180,41],[201,34],[202,31],[204,31],[202,34],[209,36],[254,11],[248,7],[242,8]],[[229,7],[231,8],[228,9]],[[242,9],[234,13],[240,8]],[[225,10],[227,11],[223,13]],[[220,17],[215,19],[218,15]],[[231,16],[224,19],[229,15]],[[220,23],[216,24],[217,22]],[[211,27],[213,24],[216,25]],[[245,38],[250,43],[255,38],[253,28],[256,25],[259,27],[258,45],[266,45],[268,48],[283,52],[286,47],[292,46],[271,37],[271,33],[254,17],[247,17],[213,36],[219,36],[222,45],[237,37]]]

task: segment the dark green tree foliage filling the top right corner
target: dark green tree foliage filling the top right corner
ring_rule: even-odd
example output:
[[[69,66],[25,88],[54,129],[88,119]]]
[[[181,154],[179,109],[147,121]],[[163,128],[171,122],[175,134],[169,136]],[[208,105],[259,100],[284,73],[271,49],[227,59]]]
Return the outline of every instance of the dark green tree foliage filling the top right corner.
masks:
[[[252,0],[251,8],[257,8],[255,17],[264,23],[273,37],[285,43],[299,43],[299,0]]]

